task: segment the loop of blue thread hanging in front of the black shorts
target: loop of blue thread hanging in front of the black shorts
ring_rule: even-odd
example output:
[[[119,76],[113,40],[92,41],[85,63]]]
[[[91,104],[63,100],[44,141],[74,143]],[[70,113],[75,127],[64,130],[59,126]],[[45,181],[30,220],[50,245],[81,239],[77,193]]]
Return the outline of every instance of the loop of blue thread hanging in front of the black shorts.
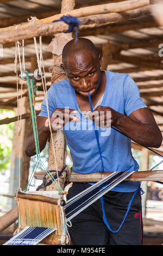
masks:
[[[115,231],[110,228],[110,225],[109,225],[108,220],[107,220],[106,215],[105,215],[104,199],[103,199],[103,197],[100,198],[101,204],[102,204],[102,211],[103,211],[103,221],[104,221],[106,227],[109,229],[109,231],[111,231],[112,233],[118,233],[118,231],[120,231],[120,229],[121,229],[121,227],[122,227],[124,221],[126,220],[126,217],[127,217],[127,215],[128,215],[128,212],[129,212],[129,210],[130,210],[131,203],[133,202],[133,199],[134,199],[134,197],[136,196],[136,193],[137,193],[139,190],[140,190],[140,186],[139,186],[139,188],[137,188],[137,190],[134,192],[133,196],[131,197],[130,202],[129,202],[128,207],[127,207],[126,214],[125,214],[125,216],[124,216],[124,218],[123,218],[123,221],[122,221],[120,227],[119,227],[117,230],[115,230]]]

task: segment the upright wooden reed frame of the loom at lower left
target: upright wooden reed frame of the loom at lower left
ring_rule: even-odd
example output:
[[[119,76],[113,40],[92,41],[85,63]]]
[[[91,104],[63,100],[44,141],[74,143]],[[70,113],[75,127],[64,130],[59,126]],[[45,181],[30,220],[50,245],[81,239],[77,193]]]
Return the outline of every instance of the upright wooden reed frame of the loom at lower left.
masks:
[[[66,245],[68,236],[65,229],[65,214],[62,206],[65,205],[67,192],[33,191],[16,192],[18,206],[19,233],[25,227],[57,228],[41,243],[51,245]],[[28,214],[27,214],[28,213]]]

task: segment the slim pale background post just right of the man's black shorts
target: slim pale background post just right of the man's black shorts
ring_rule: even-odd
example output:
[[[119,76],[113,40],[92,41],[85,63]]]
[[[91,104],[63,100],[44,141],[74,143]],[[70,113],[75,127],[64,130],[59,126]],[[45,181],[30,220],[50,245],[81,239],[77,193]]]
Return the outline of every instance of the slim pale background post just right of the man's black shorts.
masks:
[[[142,148],[142,170],[148,170],[149,166],[149,152],[147,149]],[[147,181],[143,181],[141,184],[143,191],[145,192],[142,195],[142,217],[146,217],[146,200],[147,200]]]

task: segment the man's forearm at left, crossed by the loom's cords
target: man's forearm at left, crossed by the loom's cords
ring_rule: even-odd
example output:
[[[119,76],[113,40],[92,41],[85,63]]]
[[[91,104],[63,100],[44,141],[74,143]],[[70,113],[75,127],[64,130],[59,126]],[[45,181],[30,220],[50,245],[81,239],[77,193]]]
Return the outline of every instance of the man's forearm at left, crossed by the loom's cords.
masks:
[[[47,140],[50,136],[50,131],[48,127],[42,126],[40,129],[37,130],[38,137],[39,137],[39,147],[40,152],[45,148]],[[24,141],[24,151],[27,156],[34,156],[36,155],[36,148],[35,148],[35,140],[33,132],[30,132],[29,135],[26,136]]]

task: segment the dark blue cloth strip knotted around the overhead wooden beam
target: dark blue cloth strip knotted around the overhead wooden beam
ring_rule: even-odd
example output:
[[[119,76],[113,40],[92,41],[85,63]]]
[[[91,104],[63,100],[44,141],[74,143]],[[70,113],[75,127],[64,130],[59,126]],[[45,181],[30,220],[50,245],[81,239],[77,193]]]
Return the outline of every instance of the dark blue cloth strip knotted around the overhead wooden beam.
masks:
[[[55,20],[53,22],[58,22],[58,21],[64,21],[69,25],[68,31],[66,33],[71,33],[73,29],[76,27],[75,41],[77,41],[79,24],[81,23],[81,21],[79,21],[77,17],[73,17],[71,15],[67,15],[67,16],[63,15],[59,20]]]

